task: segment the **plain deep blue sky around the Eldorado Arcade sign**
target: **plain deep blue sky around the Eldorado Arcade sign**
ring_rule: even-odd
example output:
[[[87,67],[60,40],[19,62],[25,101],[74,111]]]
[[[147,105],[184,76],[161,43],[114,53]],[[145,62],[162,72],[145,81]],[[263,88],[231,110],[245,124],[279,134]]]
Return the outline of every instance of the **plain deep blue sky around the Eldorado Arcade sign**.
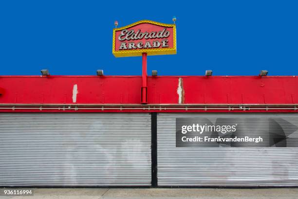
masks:
[[[298,75],[298,1],[0,1],[0,75],[141,75],[114,58],[112,28],[172,23],[177,55],[148,57],[159,75]]]

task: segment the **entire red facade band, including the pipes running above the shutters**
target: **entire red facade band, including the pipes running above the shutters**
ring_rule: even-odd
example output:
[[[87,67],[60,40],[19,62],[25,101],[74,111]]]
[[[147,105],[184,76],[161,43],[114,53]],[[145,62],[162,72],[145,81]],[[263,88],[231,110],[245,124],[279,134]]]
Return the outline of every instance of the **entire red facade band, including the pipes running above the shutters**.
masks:
[[[1,112],[296,112],[295,76],[1,76]]]

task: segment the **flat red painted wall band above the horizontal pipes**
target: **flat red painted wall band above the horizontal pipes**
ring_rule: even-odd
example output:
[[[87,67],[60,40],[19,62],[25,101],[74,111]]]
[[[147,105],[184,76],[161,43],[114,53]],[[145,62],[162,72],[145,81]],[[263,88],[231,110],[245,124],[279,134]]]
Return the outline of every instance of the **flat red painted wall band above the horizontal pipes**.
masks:
[[[149,104],[178,103],[182,78],[186,104],[298,103],[298,78],[259,76],[159,76],[148,78]],[[141,76],[0,76],[0,104],[139,104]]]

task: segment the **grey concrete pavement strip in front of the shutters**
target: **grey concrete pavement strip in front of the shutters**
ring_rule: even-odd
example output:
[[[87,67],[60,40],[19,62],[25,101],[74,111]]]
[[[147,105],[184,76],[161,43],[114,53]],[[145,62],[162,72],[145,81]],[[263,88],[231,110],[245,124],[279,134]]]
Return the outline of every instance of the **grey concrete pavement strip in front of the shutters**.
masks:
[[[35,189],[29,197],[1,199],[298,199],[298,188],[205,189],[205,188],[48,188]]]

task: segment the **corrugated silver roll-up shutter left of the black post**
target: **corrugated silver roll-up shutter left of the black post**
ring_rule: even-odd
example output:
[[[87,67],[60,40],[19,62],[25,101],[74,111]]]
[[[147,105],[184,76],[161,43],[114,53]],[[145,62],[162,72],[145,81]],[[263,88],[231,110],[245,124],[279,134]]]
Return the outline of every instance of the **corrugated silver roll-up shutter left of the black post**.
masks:
[[[150,186],[149,114],[1,113],[0,186]]]

